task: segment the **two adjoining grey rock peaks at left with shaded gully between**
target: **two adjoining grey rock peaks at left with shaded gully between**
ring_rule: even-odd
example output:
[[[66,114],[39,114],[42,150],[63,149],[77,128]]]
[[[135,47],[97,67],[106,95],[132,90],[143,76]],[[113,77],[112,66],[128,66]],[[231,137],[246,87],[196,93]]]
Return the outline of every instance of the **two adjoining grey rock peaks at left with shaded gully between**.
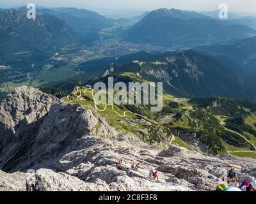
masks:
[[[115,138],[115,129],[95,110],[58,101],[31,87],[13,89],[0,106],[1,168],[51,168],[77,149],[83,136]]]

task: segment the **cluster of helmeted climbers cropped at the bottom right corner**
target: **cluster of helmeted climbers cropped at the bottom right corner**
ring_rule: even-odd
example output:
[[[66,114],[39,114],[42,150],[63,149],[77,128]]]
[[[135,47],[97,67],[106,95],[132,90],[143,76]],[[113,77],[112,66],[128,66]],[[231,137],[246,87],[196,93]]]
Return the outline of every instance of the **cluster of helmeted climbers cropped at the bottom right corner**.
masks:
[[[256,180],[254,179],[244,180],[238,187],[234,186],[234,184],[239,183],[237,170],[234,167],[226,171],[221,179],[227,180],[227,184],[218,184],[216,191],[256,191]]]

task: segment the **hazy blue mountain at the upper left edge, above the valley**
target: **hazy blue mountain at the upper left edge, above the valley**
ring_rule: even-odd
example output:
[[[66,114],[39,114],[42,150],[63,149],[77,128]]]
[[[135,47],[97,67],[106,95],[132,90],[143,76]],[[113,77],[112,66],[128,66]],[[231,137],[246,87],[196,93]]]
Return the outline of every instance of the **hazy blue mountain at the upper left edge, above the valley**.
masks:
[[[0,11],[0,62],[12,61],[22,52],[42,57],[55,47],[81,40],[70,25],[53,15],[37,15],[33,20],[22,11]]]

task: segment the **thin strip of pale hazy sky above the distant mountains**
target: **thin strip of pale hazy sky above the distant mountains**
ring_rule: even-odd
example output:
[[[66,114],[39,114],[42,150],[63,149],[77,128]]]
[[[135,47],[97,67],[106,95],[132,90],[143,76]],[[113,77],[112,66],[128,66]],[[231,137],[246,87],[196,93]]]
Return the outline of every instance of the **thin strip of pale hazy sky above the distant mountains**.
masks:
[[[91,10],[154,10],[179,8],[183,10],[218,10],[227,3],[230,11],[256,13],[256,0],[0,0],[1,7],[24,6],[28,3],[46,7],[69,6]]]

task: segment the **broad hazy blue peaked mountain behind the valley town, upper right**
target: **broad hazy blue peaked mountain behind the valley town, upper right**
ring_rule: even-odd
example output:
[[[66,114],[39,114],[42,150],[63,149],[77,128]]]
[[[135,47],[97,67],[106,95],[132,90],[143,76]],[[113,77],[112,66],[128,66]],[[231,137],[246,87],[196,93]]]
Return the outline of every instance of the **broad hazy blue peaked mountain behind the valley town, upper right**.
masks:
[[[148,13],[127,31],[131,41],[177,49],[255,35],[256,31],[245,25],[225,24],[194,11],[165,8]]]

